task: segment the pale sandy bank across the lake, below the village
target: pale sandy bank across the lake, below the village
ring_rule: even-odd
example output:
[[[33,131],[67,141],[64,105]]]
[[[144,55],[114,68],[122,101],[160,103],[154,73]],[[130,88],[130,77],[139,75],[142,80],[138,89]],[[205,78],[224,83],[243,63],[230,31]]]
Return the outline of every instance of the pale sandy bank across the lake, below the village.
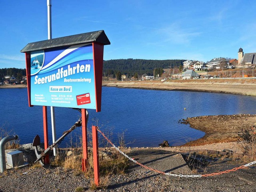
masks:
[[[152,90],[216,92],[256,96],[256,79],[106,81],[102,86]]]

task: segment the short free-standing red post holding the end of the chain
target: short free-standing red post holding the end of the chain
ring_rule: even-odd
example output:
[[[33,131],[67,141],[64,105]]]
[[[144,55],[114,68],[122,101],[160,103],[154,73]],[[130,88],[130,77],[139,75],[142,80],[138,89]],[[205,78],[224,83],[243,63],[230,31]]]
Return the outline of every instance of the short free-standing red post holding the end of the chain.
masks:
[[[96,184],[96,186],[99,186],[100,169],[99,169],[98,131],[96,126],[92,126],[92,150],[93,150],[94,183]]]

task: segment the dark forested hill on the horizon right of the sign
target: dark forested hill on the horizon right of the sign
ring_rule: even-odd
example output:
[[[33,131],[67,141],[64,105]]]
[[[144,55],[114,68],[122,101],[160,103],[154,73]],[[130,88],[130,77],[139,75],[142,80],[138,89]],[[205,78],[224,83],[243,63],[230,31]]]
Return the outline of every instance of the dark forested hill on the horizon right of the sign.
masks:
[[[139,75],[153,75],[156,68],[175,68],[179,67],[185,60],[145,60],[145,59],[115,59],[106,60],[103,65],[104,76],[110,76],[120,71],[122,74],[133,76],[135,73]]]

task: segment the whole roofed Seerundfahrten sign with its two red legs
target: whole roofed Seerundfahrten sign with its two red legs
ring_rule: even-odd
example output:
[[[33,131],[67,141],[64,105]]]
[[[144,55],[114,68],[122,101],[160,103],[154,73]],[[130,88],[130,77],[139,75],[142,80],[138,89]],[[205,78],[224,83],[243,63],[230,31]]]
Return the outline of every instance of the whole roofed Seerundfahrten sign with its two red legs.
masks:
[[[27,44],[28,106],[43,106],[44,147],[48,148],[47,106],[82,109],[82,170],[86,171],[86,109],[101,110],[103,30]],[[49,163],[46,156],[44,163]]]

